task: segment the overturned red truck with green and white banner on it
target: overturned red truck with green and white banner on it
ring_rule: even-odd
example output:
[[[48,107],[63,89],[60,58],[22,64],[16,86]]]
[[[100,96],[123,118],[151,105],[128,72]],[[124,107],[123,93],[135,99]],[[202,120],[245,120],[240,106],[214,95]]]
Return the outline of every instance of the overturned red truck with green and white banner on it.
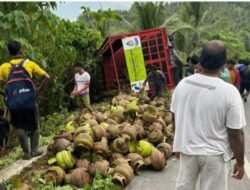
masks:
[[[138,46],[139,49],[133,53],[132,46]],[[138,81],[140,85],[141,81],[146,79],[146,71],[143,71],[143,67],[145,70],[145,65],[149,64],[156,66],[163,72],[167,79],[166,88],[173,87],[175,85],[171,69],[174,65],[173,54],[173,48],[165,28],[106,38],[98,51],[98,55],[102,58],[106,90],[118,89],[122,91],[131,86],[133,82]],[[131,67],[130,63],[132,63]]]

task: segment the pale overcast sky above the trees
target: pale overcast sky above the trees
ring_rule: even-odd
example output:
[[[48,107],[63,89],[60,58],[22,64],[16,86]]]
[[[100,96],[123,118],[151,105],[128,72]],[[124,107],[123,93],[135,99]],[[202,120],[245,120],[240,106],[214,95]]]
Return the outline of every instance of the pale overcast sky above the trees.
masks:
[[[128,10],[132,2],[101,2],[103,9],[119,9],[119,10]],[[81,14],[81,6],[90,7],[91,10],[100,9],[100,3],[97,2],[64,2],[57,4],[57,10],[55,13],[64,19],[69,19],[75,21],[77,17]]]

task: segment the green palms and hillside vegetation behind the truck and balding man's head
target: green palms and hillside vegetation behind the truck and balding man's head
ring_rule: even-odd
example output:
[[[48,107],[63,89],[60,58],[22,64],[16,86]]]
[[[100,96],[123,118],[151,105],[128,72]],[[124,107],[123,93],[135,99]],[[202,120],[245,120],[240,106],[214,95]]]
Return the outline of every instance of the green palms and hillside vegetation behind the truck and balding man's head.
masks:
[[[168,34],[174,34],[176,50],[183,60],[214,38],[226,42],[230,58],[250,58],[249,8],[247,2],[135,2],[130,10],[117,11],[121,20],[113,21],[108,30],[118,34],[166,27]],[[85,14],[78,21],[87,22]]]

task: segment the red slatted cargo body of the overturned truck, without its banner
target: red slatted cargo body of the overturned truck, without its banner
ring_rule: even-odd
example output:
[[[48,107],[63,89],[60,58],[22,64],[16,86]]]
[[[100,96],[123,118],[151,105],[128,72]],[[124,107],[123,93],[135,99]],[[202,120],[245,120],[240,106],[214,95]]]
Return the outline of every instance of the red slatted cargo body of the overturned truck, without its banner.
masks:
[[[102,57],[106,89],[118,88],[121,91],[124,85],[129,85],[122,39],[130,36],[140,36],[145,64],[155,65],[166,76],[166,88],[173,87],[166,29],[157,28],[106,38],[98,51],[98,55]]]

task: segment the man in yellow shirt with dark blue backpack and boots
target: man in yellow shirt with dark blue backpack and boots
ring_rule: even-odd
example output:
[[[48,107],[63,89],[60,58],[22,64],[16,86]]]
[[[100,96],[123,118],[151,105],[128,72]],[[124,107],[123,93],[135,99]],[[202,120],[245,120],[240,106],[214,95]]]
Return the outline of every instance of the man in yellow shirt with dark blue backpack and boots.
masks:
[[[36,107],[36,97],[47,86],[50,76],[35,62],[24,59],[22,46],[17,41],[8,44],[8,50],[13,59],[0,66],[0,80],[5,81],[5,101],[10,112],[11,124],[23,150],[23,159],[41,155],[38,150],[39,126]],[[43,77],[36,88],[32,78]],[[30,146],[28,142],[30,137]]]

